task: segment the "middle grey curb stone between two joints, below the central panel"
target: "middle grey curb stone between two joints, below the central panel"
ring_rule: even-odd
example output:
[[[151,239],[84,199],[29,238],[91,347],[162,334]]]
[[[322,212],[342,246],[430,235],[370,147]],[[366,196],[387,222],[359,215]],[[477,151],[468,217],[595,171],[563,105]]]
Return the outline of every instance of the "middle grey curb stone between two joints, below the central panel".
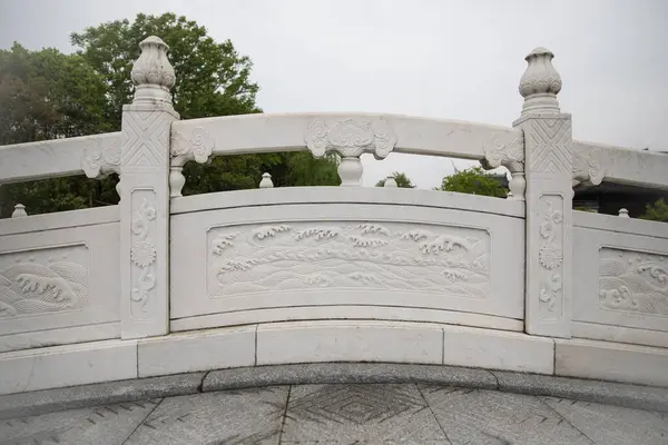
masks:
[[[203,390],[264,385],[416,382],[497,388],[497,378],[484,369],[386,363],[316,363],[213,370],[205,377]]]

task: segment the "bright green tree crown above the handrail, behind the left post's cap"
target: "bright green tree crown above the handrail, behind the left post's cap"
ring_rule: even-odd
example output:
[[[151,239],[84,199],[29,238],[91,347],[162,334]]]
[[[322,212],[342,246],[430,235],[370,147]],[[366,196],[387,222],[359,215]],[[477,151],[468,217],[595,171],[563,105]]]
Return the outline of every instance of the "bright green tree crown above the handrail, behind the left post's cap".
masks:
[[[232,41],[216,42],[205,27],[174,13],[139,13],[132,22],[116,20],[71,34],[78,53],[107,82],[110,121],[120,128],[121,109],[132,100],[130,71],[139,57],[139,42],[158,36],[169,46],[177,81],[171,93],[181,119],[259,112],[253,63]]]

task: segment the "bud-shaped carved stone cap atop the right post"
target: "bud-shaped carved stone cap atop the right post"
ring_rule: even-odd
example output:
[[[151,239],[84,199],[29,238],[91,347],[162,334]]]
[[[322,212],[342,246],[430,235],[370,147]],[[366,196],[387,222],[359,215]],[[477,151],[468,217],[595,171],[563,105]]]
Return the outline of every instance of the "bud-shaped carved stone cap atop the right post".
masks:
[[[520,95],[524,98],[522,116],[528,113],[559,113],[557,95],[561,91],[561,76],[552,66],[554,53],[546,48],[529,52],[527,70],[520,79]]]

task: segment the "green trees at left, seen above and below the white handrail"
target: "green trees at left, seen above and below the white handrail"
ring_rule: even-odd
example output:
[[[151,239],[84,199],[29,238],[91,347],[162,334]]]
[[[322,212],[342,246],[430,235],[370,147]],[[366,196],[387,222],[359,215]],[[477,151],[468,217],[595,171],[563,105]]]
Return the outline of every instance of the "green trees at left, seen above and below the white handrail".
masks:
[[[132,62],[139,42],[159,36],[169,47],[176,71],[175,109],[181,119],[262,112],[256,105],[253,63],[229,41],[216,42],[206,28],[174,13],[137,14],[71,34],[78,49],[28,51],[20,44],[0,50],[0,144],[84,136],[120,129],[122,105],[134,87]],[[262,174],[276,186],[337,185],[337,158],[310,152],[217,157],[209,165],[189,162],[184,195],[257,187]],[[0,217],[13,205],[29,214],[117,204],[116,177],[47,179],[0,187]]]

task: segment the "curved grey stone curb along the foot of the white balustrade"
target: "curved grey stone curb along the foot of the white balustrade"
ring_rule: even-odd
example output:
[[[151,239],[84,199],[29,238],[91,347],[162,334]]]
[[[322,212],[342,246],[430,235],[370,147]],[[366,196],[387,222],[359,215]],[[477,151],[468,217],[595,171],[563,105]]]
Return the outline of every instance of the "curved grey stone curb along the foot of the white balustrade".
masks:
[[[148,398],[274,385],[423,383],[570,398],[668,413],[668,388],[441,365],[274,365],[45,389],[0,396],[0,419]]]

